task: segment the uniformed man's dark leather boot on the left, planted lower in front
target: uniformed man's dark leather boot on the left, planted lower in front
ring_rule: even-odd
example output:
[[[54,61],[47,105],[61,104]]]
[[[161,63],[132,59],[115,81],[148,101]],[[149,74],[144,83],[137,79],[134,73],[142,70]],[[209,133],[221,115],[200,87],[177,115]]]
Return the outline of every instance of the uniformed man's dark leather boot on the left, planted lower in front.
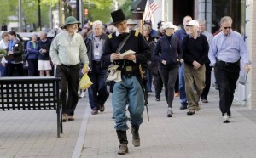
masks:
[[[119,142],[120,142],[118,154],[125,155],[126,153],[128,153],[128,147],[127,147],[128,140],[127,140],[126,131],[116,130],[116,133],[118,135]]]

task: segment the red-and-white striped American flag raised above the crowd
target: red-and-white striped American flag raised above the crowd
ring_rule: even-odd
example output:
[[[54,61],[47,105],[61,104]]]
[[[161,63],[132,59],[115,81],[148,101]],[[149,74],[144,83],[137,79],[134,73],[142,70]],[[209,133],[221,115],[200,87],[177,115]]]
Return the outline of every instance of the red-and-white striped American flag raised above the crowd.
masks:
[[[159,5],[154,0],[147,1],[146,8],[143,14],[143,20],[151,20],[154,23],[154,11],[159,8]]]

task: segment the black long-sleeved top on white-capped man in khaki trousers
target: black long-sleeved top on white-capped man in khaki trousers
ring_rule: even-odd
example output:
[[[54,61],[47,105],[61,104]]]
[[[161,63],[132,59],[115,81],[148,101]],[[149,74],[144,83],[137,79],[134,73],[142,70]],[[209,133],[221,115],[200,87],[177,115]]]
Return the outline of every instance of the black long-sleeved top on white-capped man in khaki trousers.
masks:
[[[199,34],[196,39],[187,35],[183,38],[182,48],[183,59],[186,64],[193,66],[194,60],[201,65],[207,63],[209,44],[205,35]]]

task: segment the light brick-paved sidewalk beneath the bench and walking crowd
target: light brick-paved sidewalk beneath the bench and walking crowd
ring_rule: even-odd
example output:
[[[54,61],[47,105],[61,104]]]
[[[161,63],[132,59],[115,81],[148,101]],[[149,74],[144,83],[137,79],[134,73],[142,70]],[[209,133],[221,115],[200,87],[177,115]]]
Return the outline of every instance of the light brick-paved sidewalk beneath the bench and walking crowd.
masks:
[[[113,129],[111,96],[106,110],[90,115],[88,97],[79,99],[75,121],[63,123],[64,133],[56,138],[55,110],[1,111],[0,158],[2,157],[234,157],[256,155],[256,110],[234,102],[229,124],[222,123],[218,93],[211,91],[209,103],[194,116],[179,110],[174,99],[173,117],[166,117],[167,105],[154,101],[149,93],[140,127],[141,146],[133,147],[127,131],[129,153],[117,155],[118,139]],[[130,122],[128,122],[129,126]]]

